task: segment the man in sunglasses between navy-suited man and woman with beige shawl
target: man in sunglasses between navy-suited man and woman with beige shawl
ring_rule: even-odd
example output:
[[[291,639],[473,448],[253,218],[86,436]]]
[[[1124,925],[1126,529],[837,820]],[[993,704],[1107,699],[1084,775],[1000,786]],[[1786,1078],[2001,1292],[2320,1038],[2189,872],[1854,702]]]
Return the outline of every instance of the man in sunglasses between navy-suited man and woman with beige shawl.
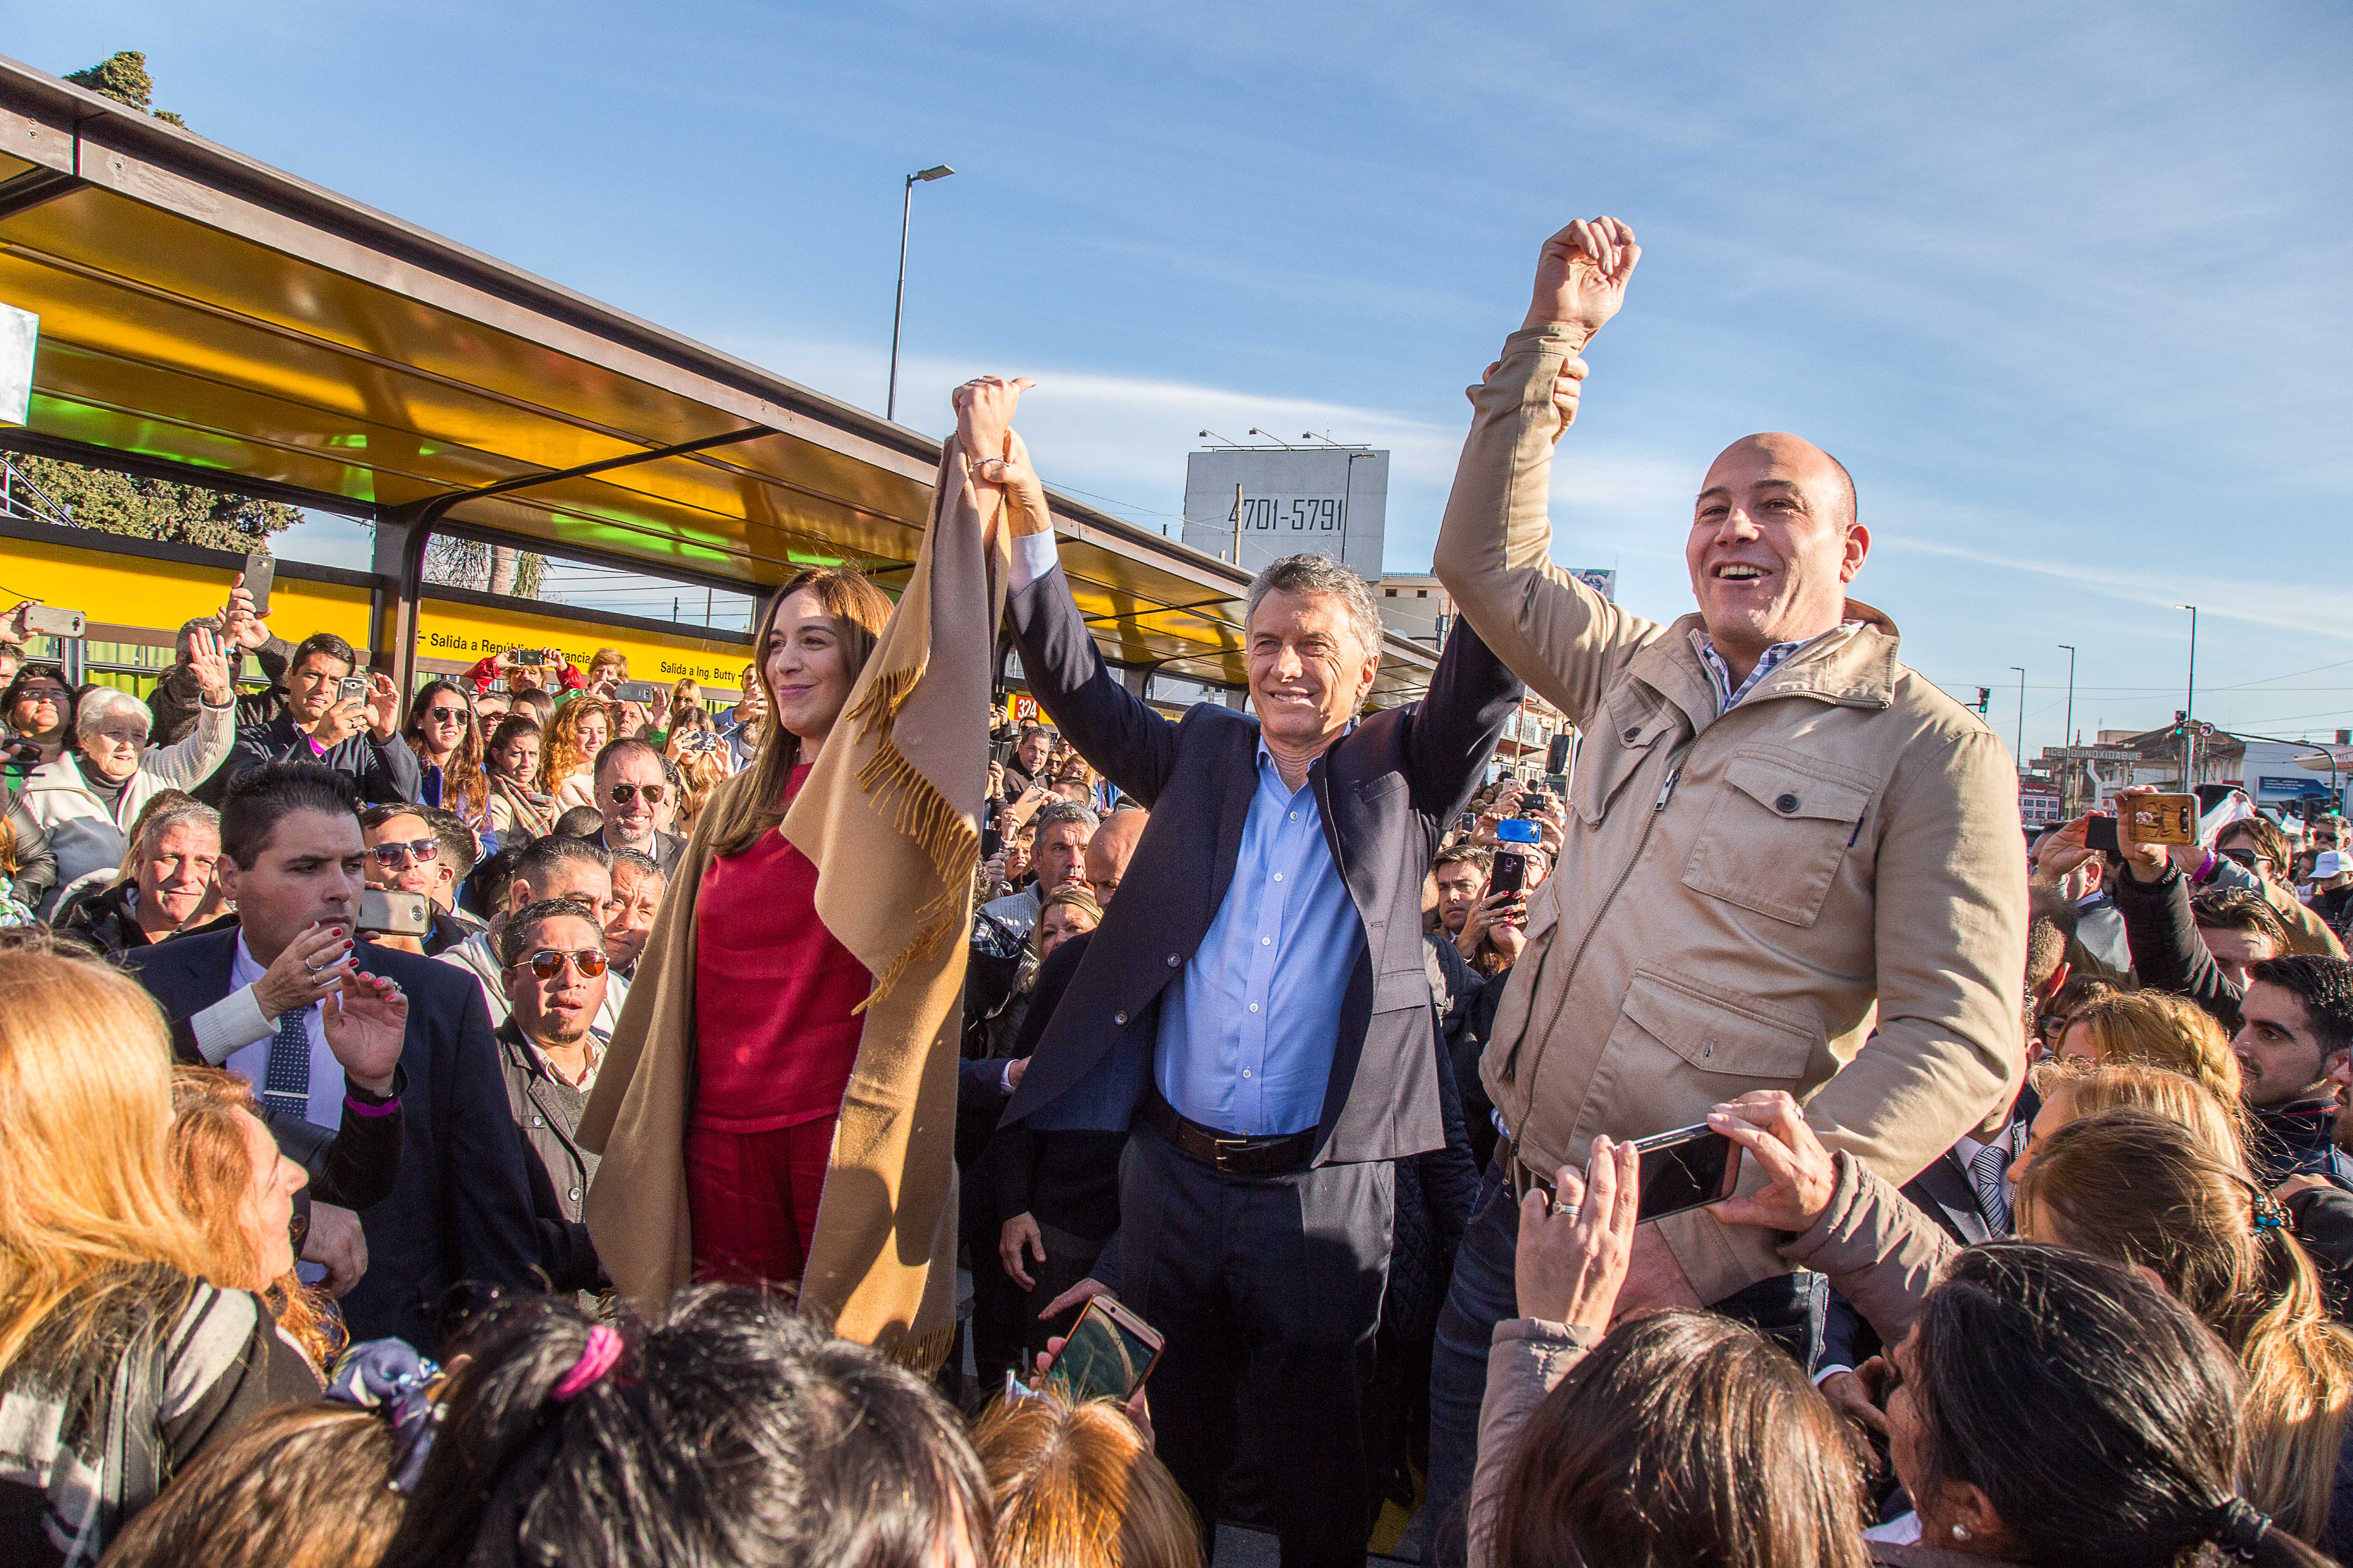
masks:
[[[508,917],[499,961],[513,1009],[499,1025],[499,1065],[529,1154],[539,1262],[555,1291],[595,1291],[602,1272],[584,1204],[598,1157],[581,1147],[579,1121],[605,1056],[591,1027],[612,978],[605,931],[588,905],[541,898]]]

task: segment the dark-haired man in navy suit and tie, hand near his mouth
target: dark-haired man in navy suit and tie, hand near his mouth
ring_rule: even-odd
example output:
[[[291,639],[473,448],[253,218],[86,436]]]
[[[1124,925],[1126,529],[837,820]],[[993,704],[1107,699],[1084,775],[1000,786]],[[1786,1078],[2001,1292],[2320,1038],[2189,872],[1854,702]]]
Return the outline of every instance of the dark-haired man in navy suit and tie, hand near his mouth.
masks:
[[[216,875],[238,926],[125,961],[184,1053],[249,1079],[282,1121],[341,1128],[336,1143],[381,1117],[393,1091],[391,1060],[336,1046],[348,1013],[365,994],[393,1011],[405,1001],[398,1178],[360,1211],[369,1265],[341,1307],[353,1338],[400,1335],[435,1354],[454,1286],[536,1288],[539,1241],[480,990],[447,964],[353,943],[365,853],[348,780],[308,764],[259,769],[221,806]],[[362,1067],[381,1077],[362,1081]]]

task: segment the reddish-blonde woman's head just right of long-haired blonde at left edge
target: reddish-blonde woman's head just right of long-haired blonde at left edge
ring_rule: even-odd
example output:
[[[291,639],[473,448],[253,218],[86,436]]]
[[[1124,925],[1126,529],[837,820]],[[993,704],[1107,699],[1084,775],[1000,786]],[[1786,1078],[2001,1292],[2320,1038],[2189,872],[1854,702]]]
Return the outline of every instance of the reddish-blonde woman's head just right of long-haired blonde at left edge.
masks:
[[[172,1072],[172,1164],[179,1199],[212,1248],[205,1276],[259,1295],[280,1333],[325,1371],[344,1331],[296,1279],[287,1229],[306,1175],[278,1152],[245,1079],[221,1067]]]

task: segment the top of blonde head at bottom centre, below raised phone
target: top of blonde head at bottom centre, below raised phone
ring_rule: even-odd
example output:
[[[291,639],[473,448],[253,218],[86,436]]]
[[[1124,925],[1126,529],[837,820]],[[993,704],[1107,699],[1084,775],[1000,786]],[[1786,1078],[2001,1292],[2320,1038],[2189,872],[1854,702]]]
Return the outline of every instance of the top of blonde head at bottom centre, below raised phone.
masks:
[[[1200,1568],[1193,1505],[1108,1399],[1047,1382],[988,1406],[972,1446],[998,1502],[993,1568]]]

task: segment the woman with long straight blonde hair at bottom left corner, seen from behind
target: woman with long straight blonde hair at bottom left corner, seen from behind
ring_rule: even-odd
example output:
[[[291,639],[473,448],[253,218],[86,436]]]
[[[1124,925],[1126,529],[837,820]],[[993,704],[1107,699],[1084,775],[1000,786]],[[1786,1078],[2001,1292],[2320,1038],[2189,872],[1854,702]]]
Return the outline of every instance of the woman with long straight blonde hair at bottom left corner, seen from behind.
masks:
[[[94,1563],[214,1439],[318,1373],[216,1248],[172,1157],[172,1048],[136,980],[0,961],[0,1561]]]

